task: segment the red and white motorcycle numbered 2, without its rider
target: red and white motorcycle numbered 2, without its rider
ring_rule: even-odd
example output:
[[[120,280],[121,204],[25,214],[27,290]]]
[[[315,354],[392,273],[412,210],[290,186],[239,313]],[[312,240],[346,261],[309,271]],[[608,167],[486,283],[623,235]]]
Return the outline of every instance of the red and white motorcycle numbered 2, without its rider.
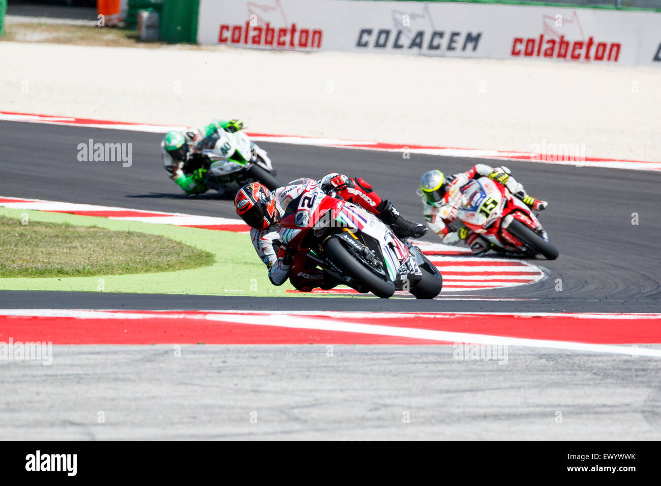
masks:
[[[440,293],[443,278],[436,266],[376,216],[329,196],[313,179],[290,186],[291,195],[283,194],[291,200],[284,204],[280,236],[295,259],[303,255],[338,282],[381,298],[395,290],[408,290],[418,299]]]

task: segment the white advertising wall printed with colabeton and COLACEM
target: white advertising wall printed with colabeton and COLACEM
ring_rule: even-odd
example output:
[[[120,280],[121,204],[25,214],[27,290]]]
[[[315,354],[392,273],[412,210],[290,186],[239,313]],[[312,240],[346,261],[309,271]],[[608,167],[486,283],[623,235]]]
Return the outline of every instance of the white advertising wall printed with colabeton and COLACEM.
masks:
[[[661,66],[661,13],[356,0],[200,0],[198,43]]]

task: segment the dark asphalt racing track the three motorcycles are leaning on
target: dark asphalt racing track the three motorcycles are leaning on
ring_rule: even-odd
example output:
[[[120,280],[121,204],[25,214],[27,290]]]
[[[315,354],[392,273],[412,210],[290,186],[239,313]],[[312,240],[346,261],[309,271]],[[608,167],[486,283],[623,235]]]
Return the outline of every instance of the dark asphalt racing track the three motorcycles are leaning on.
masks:
[[[231,200],[221,200],[215,192],[194,199],[182,195],[161,168],[159,134],[19,122],[0,122],[0,134],[0,170],[3,173],[0,194],[3,196],[236,217]],[[132,166],[122,167],[120,162],[78,161],[77,145],[89,139],[100,143],[132,143]],[[413,220],[421,220],[420,200],[415,190],[418,178],[425,171],[440,168],[446,173],[457,173],[477,162],[494,166],[502,163],[416,154],[405,159],[401,153],[282,143],[260,145],[274,161],[281,181],[302,176],[322,177],[329,171],[363,177],[379,194],[393,200],[404,216]],[[660,173],[521,161],[508,161],[506,165],[530,194],[551,203],[540,220],[561,256],[557,261],[536,262],[548,270],[549,276],[542,282],[514,289],[471,291],[470,296],[526,299],[516,304],[516,308],[528,311],[657,312],[661,309]],[[638,214],[637,225],[632,224],[633,213]],[[428,236],[430,241],[434,238],[434,235]],[[562,290],[556,290],[559,283]],[[288,298],[181,297],[126,294],[121,302],[132,309],[200,308],[191,302],[204,302],[202,307],[207,308],[231,305],[245,309],[253,306],[299,309],[307,305]],[[17,305],[13,303],[20,299],[15,294],[0,293],[0,304],[5,307]],[[104,296],[44,292],[36,300],[29,298],[28,302],[40,302],[48,307],[85,308],[105,299]],[[404,305],[415,305],[418,310],[423,310],[420,305],[424,310],[459,310],[467,305],[456,300],[450,304],[450,299]],[[399,309],[402,302],[331,297],[323,301],[323,306],[348,310]],[[213,305],[214,302],[217,305]],[[480,301],[481,310],[501,310],[503,304],[497,302]],[[106,308],[114,308],[117,304],[108,305]],[[315,300],[315,304],[309,305],[319,303]],[[474,308],[473,304],[468,305]]]

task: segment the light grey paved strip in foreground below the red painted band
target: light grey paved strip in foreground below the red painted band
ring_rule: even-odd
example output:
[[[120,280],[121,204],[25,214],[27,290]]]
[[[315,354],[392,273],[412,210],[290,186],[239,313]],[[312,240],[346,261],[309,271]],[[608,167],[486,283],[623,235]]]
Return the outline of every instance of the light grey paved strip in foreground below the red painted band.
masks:
[[[661,360],[511,346],[455,357],[451,345],[53,346],[50,365],[0,363],[0,438],[661,438]]]

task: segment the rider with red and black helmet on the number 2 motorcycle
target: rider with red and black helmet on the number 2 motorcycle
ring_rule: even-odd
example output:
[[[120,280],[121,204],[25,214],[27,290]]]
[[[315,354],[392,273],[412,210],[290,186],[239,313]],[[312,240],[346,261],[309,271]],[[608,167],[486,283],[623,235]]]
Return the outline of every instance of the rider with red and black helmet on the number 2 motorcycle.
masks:
[[[237,193],[235,208],[237,214],[251,226],[254,249],[268,267],[268,278],[274,285],[282,285],[289,278],[297,290],[310,292],[317,287],[329,290],[338,284],[325,270],[309,262],[305,255],[292,253],[278,231],[278,223],[288,205],[301,195],[306,186],[319,186],[329,196],[358,204],[390,225],[399,237],[421,237],[427,232],[425,225],[400,216],[389,200],[381,199],[371,185],[360,177],[350,179],[346,175],[330,173],[321,181],[297,179],[273,192],[258,182],[247,184]]]

